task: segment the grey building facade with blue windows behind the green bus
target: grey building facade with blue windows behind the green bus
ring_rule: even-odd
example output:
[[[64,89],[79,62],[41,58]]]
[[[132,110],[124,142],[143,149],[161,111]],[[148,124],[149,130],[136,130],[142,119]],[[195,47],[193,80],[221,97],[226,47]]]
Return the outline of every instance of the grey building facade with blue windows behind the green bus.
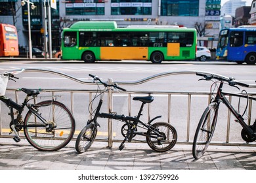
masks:
[[[45,4],[43,0],[30,0],[37,7],[31,12],[32,46],[44,49]],[[20,46],[28,46],[28,7],[18,0],[0,0],[0,22],[15,24]],[[47,3],[46,3],[47,5]],[[15,8],[12,16],[10,9]],[[12,8],[11,8],[12,7]],[[51,9],[53,50],[60,49],[60,35],[64,27],[77,21],[116,21],[119,27],[127,25],[180,25],[206,27],[202,39],[205,46],[213,46],[219,34],[221,0],[57,0],[57,9]],[[15,23],[14,20],[15,19]],[[47,30],[47,29],[46,29]],[[211,42],[211,43],[209,43]]]

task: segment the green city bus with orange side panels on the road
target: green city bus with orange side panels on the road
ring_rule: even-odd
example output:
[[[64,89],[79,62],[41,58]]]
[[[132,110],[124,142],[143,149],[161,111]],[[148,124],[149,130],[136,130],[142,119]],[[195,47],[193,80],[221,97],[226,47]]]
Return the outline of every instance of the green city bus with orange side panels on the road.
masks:
[[[76,22],[62,31],[62,59],[194,60],[196,29],[171,25],[117,27],[116,22]]]

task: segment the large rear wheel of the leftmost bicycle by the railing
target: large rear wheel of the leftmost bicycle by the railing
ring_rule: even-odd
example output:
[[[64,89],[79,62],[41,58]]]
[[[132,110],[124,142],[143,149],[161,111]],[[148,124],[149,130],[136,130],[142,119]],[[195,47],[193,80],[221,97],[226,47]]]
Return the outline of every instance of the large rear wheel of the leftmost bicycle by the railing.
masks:
[[[24,134],[28,142],[43,151],[59,150],[66,146],[75,132],[75,120],[70,110],[58,101],[42,101],[33,108],[48,125],[43,127],[38,116],[28,111],[24,120]]]

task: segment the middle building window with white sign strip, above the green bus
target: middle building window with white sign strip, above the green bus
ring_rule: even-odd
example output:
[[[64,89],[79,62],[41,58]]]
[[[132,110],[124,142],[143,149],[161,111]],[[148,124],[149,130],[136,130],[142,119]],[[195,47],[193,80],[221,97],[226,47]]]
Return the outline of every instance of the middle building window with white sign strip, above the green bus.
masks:
[[[152,0],[112,0],[112,15],[145,15],[152,14]]]

